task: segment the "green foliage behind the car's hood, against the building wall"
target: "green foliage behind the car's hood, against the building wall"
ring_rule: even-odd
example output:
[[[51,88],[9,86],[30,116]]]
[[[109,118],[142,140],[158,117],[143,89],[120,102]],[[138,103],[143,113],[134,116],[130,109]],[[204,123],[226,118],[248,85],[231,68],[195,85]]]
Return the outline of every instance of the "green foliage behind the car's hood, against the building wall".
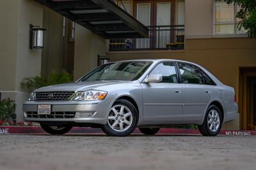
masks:
[[[44,86],[51,86],[54,84],[62,84],[72,81],[73,77],[70,73],[51,72],[48,76],[37,75],[35,77],[25,78],[20,83],[20,87],[33,91],[34,89],[42,88]]]

